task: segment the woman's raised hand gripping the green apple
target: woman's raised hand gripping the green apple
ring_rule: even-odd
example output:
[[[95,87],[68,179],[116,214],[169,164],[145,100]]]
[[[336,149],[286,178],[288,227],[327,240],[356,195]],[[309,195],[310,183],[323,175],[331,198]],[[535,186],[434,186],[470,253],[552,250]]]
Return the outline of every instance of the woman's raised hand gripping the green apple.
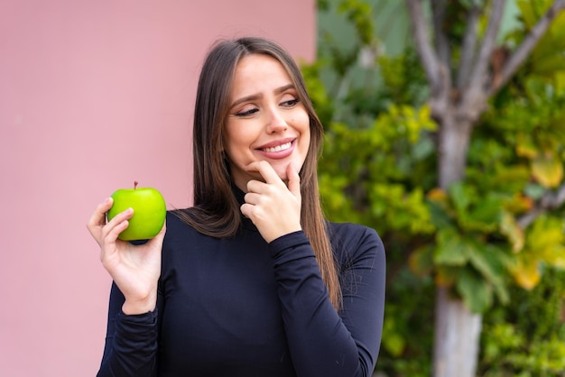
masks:
[[[134,245],[117,238],[134,216],[132,208],[106,221],[106,213],[113,199],[99,204],[88,220],[88,231],[100,245],[100,260],[124,294],[125,314],[142,314],[153,311],[157,303],[157,282],[161,274],[162,240],[166,225],[161,232],[145,244]]]

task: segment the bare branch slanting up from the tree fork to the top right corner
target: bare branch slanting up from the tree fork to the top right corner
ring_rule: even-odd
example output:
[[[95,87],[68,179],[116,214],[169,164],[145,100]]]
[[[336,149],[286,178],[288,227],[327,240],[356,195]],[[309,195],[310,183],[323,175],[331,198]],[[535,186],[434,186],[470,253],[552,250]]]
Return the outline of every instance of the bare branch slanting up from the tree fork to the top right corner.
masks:
[[[522,44],[514,51],[510,58],[506,61],[505,67],[501,73],[501,79],[496,86],[490,87],[489,94],[495,94],[500,87],[503,87],[505,83],[514,75],[517,69],[520,68],[523,61],[530,55],[530,52],[535,48],[538,41],[542,39],[543,34],[551,25],[551,21],[563,10],[565,9],[565,0],[556,0],[548,9],[548,11],[542,16],[540,21],[533,26],[532,32],[530,32],[526,38],[522,41]]]

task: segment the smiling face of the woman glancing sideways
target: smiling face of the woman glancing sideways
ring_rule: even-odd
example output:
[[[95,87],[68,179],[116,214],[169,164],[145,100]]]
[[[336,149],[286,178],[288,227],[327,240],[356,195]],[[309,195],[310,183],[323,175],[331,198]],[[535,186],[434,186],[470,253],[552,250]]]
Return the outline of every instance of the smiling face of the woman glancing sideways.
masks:
[[[223,143],[232,179],[246,191],[253,161],[268,161],[286,181],[289,164],[300,171],[310,146],[310,118],[292,79],[274,58],[252,54],[237,63]]]

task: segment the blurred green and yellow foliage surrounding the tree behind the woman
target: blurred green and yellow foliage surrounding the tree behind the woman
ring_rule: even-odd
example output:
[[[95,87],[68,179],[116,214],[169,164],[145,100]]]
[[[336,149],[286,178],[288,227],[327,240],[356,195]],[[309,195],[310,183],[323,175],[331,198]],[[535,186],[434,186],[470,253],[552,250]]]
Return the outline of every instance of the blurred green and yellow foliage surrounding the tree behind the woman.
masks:
[[[549,3],[510,1],[498,51],[522,41]],[[456,49],[468,1],[450,4]],[[466,178],[441,190],[437,124],[404,6],[320,0],[319,59],[302,64],[326,128],[319,174],[327,215],[374,227],[387,250],[376,371],[431,374],[434,292],[445,285],[484,314],[479,375],[565,376],[565,209],[521,225],[563,185],[565,15],[492,98]]]

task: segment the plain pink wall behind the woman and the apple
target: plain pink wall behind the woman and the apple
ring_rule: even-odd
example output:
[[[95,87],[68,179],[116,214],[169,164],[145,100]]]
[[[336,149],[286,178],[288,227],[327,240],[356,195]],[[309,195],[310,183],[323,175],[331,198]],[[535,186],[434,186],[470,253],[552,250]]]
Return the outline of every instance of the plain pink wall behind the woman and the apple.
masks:
[[[190,203],[199,66],[217,37],[315,51],[315,1],[0,3],[0,375],[94,375],[110,279],[86,222],[115,189]]]

